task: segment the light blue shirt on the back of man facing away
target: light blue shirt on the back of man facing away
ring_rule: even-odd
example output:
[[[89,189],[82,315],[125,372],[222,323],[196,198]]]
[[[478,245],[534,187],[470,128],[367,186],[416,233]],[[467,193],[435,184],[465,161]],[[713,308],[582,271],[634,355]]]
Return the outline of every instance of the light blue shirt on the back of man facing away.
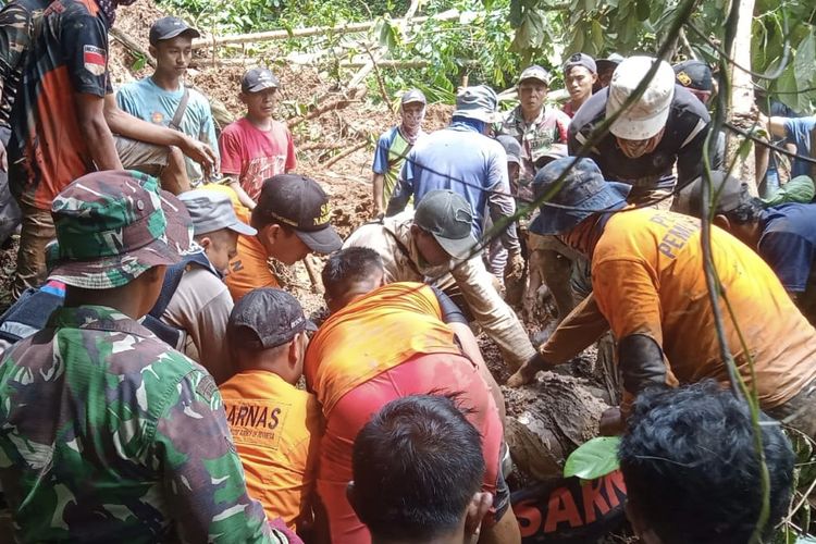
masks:
[[[450,189],[465,197],[473,212],[477,238],[490,191],[509,191],[502,144],[461,123],[419,140],[408,153],[401,177],[412,187],[417,203],[434,189]]]

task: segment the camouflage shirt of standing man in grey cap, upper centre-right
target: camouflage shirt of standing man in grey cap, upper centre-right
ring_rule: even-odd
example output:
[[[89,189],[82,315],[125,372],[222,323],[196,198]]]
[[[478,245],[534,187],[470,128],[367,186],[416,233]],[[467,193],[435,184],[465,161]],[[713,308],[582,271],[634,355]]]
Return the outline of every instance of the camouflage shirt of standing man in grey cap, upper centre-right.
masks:
[[[549,151],[553,144],[566,144],[568,128],[569,116],[555,108],[545,106],[532,123],[524,122],[521,107],[507,112],[498,134],[510,135],[521,145],[521,168],[518,187],[512,187],[514,195],[532,200],[533,191],[530,185],[535,177],[535,161]]]

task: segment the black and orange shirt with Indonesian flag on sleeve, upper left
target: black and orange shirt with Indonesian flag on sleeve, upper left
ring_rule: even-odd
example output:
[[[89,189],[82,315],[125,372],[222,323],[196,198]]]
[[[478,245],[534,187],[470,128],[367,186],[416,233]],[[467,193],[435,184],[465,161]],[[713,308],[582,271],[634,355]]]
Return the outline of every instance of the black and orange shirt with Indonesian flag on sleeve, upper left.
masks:
[[[55,0],[45,11],[11,116],[9,182],[23,203],[50,210],[54,196],[95,170],[74,94],[104,98],[108,22],[92,0]]]

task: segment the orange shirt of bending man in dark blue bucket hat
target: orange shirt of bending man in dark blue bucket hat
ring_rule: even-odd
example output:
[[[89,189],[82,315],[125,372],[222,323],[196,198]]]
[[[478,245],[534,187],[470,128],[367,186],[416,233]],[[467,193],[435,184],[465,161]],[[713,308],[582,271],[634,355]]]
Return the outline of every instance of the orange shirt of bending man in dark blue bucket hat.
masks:
[[[615,213],[595,247],[593,292],[615,337],[648,336],[665,355],[659,368],[621,361],[629,394],[648,383],[729,381],[714,329],[700,237],[696,219],[641,209]],[[816,379],[816,331],[752,249],[713,227],[712,252],[754,359],[756,382],[734,320],[720,302],[737,368],[749,387],[756,386],[763,409],[777,407]]]

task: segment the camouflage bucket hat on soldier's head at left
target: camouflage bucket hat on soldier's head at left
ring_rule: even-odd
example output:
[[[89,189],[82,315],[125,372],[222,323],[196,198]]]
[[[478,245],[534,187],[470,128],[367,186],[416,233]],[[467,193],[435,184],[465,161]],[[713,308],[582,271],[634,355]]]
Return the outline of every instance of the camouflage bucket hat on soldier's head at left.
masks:
[[[51,217],[50,277],[86,289],[121,287],[152,267],[178,262],[193,234],[184,205],[136,171],[79,177],[57,195]]]

